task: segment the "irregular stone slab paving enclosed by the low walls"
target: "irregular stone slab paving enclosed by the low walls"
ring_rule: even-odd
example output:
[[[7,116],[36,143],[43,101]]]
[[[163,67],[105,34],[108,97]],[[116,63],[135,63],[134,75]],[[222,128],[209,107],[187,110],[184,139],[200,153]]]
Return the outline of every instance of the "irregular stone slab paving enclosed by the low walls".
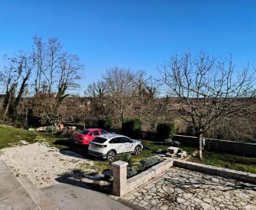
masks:
[[[256,185],[172,167],[123,198],[146,209],[256,210]]]

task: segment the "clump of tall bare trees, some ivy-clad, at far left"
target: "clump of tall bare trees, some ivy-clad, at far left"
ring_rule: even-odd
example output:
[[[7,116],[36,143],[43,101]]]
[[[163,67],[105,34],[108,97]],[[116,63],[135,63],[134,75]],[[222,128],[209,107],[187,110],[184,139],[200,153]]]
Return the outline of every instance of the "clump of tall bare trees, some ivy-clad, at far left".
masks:
[[[1,89],[5,93],[2,102],[3,121],[18,117],[21,100],[27,103],[22,104],[23,111],[20,111],[20,114],[26,112],[25,123],[28,113],[55,126],[61,119],[69,120],[67,118],[71,115],[62,106],[62,101],[69,96],[69,91],[79,87],[79,71],[83,69],[83,64],[77,55],[63,51],[56,37],[44,43],[35,36],[31,53],[19,52],[12,58],[5,56],[5,61],[0,71],[3,79]],[[22,99],[29,92],[33,97],[29,101]]]

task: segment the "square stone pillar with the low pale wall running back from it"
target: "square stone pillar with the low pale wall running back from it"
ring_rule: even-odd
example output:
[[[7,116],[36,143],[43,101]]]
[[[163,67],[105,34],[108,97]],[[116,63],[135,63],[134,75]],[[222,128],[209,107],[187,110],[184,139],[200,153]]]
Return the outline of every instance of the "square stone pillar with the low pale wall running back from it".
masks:
[[[130,179],[127,179],[127,165],[128,163],[121,160],[112,163],[113,193],[116,196],[123,196],[147,181],[153,179],[155,176],[165,172],[167,169],[173,166],[173,160],[164,160],[146,171],[131,177]]]

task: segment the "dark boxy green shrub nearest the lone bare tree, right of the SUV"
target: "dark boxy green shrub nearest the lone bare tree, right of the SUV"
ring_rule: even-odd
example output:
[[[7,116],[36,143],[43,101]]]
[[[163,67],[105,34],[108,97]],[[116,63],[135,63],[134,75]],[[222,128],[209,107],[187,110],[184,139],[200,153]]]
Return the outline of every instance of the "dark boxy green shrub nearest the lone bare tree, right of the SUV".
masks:
[[[164,139],[172,139],[173,134],[175,133],[175,127],[173,123],[163,122],[158,123],[156,127],[157,132],[157,141],[164,141]]]

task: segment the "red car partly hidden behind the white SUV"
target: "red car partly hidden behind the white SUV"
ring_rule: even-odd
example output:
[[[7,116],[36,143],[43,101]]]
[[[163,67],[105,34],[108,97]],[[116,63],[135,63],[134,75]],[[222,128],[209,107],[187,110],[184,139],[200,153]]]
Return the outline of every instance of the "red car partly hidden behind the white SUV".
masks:
[[[76,133],[73,140],[76,144],[88,145],[94,138],[106,133],[108,132],[99,128],[89,128],[81,131],[80,133]]]

